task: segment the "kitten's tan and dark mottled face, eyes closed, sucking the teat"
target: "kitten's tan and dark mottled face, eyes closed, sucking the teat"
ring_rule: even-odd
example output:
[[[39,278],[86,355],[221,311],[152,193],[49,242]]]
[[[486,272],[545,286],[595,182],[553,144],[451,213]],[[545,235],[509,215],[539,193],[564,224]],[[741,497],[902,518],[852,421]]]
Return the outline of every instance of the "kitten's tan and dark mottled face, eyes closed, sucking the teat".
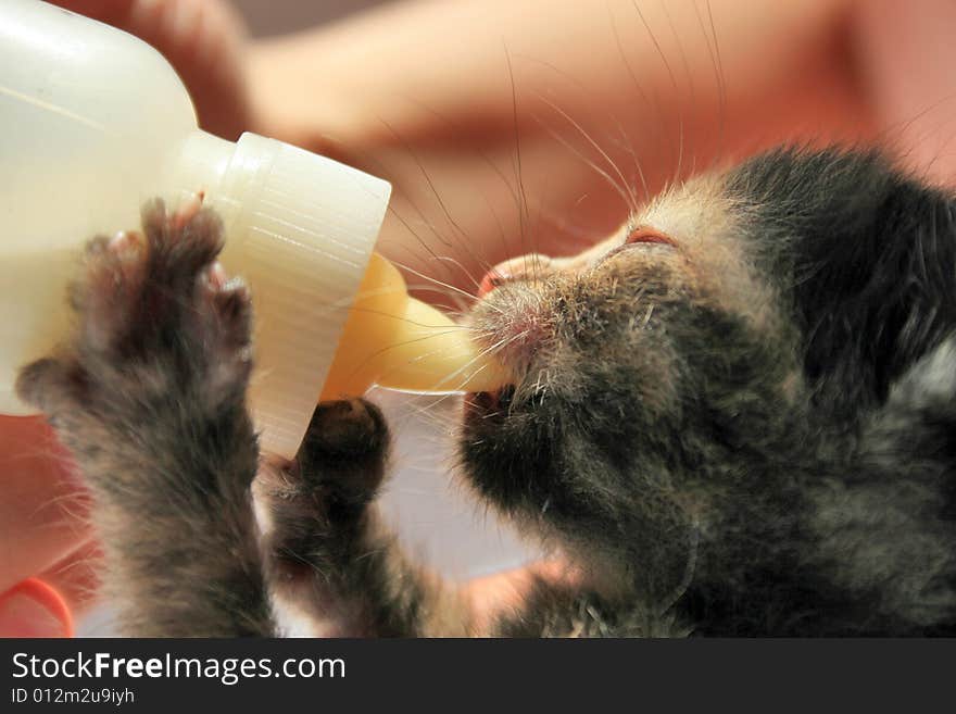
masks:
[[[745,224],[724,177],[700,179],[579,255],[500,266],[473,324],[517,379],[465,406],[486,496],[573,538],[684,544],[722,490],[708,462],[733,479],[733,451],[800,384]]]

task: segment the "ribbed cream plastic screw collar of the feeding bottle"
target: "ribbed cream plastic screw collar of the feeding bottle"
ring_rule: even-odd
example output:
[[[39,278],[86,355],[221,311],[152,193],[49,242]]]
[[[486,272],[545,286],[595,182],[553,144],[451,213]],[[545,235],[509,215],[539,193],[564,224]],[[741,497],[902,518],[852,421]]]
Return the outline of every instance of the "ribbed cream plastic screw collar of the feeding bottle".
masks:
[[[250,286],[256,368],[249,399],[264,451],[294,456],[375,247],[391,186],[255,134],[228,158],[214,208],[222,260]]]

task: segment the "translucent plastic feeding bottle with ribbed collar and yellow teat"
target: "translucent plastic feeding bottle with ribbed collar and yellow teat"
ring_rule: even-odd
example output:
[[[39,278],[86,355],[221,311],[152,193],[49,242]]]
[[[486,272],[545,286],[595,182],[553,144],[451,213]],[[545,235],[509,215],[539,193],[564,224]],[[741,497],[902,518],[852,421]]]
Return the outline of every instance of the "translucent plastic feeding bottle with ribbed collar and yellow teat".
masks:
[[[27,413],[16,371],[68,334],[85,241],[138,226],[149,198],[197,191],[225,223],[223,264],[252,290],[264,450],[291,458],[319,397],[505,380],[373,253],[389,184],[254,134],[202,131],[173,68],[126,33],[3,0],[0,128],[0,413]]]

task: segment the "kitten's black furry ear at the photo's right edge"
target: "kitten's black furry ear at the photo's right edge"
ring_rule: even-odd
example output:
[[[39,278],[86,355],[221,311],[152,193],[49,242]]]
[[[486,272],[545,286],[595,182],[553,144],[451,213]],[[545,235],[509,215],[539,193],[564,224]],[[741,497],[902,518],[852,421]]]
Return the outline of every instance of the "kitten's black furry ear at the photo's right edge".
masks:
[[[830,154],[793,243],[805,369],[850,410],[956,330],[956,200],[877,154]]]

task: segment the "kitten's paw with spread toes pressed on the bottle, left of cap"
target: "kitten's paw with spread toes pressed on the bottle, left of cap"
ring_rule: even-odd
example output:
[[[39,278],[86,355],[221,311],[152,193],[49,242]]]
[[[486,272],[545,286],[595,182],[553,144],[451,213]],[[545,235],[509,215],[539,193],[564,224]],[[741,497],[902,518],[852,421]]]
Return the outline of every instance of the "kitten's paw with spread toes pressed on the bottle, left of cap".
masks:
[[[249,291],[215,262],[218,216],[189,201],[142,209],[140,231],[90,241],[71,288],[78,330],[71,349],[21,373],[21,397],[55,417],[66,409],[124,416],[189,397],[215,411],[241,399],[251,368]]]

